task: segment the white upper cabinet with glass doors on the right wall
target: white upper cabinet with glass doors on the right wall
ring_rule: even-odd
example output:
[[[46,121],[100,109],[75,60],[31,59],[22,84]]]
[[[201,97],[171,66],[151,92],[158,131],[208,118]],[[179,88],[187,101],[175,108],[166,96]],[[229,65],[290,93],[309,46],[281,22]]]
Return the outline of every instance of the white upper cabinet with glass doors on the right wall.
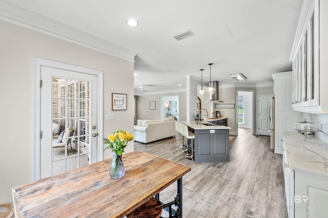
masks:
[[[328,1],[304,0],[291,55],[292,105],[296,111],[328,113],[327,14]]]

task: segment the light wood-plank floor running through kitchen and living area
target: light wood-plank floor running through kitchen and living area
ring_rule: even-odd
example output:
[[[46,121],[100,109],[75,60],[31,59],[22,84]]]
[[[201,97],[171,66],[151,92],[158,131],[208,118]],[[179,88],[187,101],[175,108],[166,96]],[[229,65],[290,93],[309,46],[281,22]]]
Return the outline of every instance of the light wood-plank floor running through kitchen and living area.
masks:
[[[238,131],[230,136],[230,162],[225,163],[187,160],[178,148],[179,134],[147,144],[135,141],[134,147],[192,167],[183,177],[182,217],[288,217],[282,156],[271,152],[270,136]],[[176,183],[160,192],[160,200],[172,200],[175,191]]]

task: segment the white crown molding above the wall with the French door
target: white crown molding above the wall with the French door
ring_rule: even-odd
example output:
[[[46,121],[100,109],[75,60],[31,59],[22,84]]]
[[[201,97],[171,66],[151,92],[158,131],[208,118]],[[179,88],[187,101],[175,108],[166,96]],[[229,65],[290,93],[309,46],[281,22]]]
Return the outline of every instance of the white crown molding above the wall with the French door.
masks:
[[[137,53],[124,47],[20,8],[4,0],[0,0],[0,19],[128,61],[134,62],[134,57],[137,55]]]

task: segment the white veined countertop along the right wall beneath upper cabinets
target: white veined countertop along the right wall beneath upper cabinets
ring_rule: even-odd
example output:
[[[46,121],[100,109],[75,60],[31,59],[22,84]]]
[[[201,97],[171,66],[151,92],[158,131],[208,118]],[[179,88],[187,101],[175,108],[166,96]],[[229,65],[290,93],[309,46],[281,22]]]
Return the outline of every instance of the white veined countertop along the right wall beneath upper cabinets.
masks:
[[[328,176],[328,144],[315,135],[283,131],[283,141],[292,169]]]

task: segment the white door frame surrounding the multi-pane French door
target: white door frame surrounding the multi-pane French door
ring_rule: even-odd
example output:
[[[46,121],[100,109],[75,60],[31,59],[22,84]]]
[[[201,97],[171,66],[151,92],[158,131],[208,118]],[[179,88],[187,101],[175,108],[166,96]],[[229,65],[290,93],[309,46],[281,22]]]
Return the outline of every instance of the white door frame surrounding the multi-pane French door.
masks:
[[[45,59],[33,58],[33,120],[32,129],[32,179],[33,181],[40,179],[40,78],[41,66],[54,67],[76,72],[83,72],[85,74],[97,75],[97,92],[98,92],[98,111],[97,111],[97,161],[103,160],[103,71],[49,61]]]

